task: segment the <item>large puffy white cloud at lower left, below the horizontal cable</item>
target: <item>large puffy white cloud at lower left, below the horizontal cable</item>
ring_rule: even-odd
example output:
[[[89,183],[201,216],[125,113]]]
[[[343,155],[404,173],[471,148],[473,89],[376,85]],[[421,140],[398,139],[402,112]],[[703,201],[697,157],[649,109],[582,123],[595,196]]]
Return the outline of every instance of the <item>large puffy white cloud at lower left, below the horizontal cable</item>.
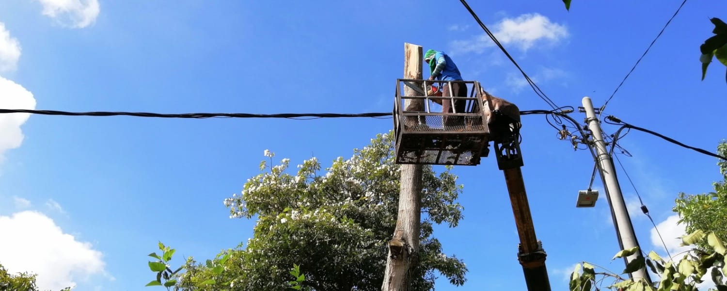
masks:
[[[0,263],[11,273],[38,274],[42,290],[73,287],[76,280],[105,274],[103,254],[79,242],[40,212],[23,211],[0,216]]]

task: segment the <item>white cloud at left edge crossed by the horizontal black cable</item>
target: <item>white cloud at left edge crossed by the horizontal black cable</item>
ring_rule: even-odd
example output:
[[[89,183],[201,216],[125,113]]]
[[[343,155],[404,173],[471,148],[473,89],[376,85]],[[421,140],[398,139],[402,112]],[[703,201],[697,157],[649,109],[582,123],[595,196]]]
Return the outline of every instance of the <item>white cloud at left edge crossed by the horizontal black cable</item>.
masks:
[[[36,100],[33,93],[20,84],[0,76],[0,108],[35,109]],[[5,151],[17,148],[23,143],[23,131],[20,126],[28,120],[28,113],[0,114],[0,161]]]

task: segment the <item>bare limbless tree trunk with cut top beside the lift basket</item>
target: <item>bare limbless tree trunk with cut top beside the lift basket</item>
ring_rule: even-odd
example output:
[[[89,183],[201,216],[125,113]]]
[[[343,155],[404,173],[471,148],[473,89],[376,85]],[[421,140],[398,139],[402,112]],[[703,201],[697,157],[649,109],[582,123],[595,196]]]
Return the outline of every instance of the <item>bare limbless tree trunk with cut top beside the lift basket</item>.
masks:
[[[422,79],[422,47],[404,44],[404,79]],[[422,87],[419,84],[419,87]],[[420,96],[414,89],[404,88],[406,96]],[[423,100],[406,99],[406,111],[424,111]],[[417,121],[414,121],[417,122]],[[420,200],[422,164],[402,164],[399,183],[399,208],[393,239],[389,242],[382,291],[409,290],[412,273],[419,266]]]

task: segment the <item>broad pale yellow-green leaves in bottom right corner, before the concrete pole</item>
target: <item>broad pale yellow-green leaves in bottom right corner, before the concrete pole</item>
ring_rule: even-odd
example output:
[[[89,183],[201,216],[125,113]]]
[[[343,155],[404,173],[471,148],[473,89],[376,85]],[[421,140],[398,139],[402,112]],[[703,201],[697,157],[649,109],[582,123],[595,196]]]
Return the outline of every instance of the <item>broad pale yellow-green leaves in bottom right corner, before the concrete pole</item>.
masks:
[[[710,244],[715,250],[720,250],[719,246],[724,246],[724,242],[715,236],[712,231],[694,231],[691,234],[682,237],[685,245],[695,245],[697,243]],[[634,253],[640,252],[638,248],[630,250],[622,250],[618,252],[614,258],[623,258]],[[628,266],[638,266],[629,268]],[[571,291],[583,290],[600,290],[597,284],[601,284],[604,279],[611,278],[613,283],[608,286],[609,289],[622,291],[694,291],[697,290],[696,284],[704,282],[704,276],[710,273],[709,278],[715,284],[717,290],[725,290],[727,288],[725,282],[725,274],[727,272],[727,261],[725,256],[720,252],[705,252],[694,248],[686,255],[683,255],[676,261],[664,261],[656,252],[649,252],[648,258],[639,256],[628,264],[622,274],[631,273],[648,266],[648,268],[657,274],[660,278],[656,282],[646,282],[645,279],[624,279],[619,274],[611,272],[595,272],[595,268],[590,263],[583,262],[583,266],[579,263],[576,269],[571,273],[571,281],[569,289]],[[597,278],[601,276],[601,279]]]

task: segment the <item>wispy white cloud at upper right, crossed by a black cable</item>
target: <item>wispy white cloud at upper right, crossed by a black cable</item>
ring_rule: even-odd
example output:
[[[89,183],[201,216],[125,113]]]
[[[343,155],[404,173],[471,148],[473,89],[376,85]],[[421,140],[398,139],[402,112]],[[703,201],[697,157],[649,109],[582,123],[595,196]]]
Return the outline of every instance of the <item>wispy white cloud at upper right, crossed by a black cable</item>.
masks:
[[[536,44],[558,44],[569,36],[565,25],[553,23],[538,13],[505,18],[492,27],[494,27],[491,29],[492,33],[501,44],[515,46],[523,51]],[[482,53],[495,44],[487,34],[483,33],[473,39],[452,41],[450,45],[451,53],[454,55],[467,52]]]

